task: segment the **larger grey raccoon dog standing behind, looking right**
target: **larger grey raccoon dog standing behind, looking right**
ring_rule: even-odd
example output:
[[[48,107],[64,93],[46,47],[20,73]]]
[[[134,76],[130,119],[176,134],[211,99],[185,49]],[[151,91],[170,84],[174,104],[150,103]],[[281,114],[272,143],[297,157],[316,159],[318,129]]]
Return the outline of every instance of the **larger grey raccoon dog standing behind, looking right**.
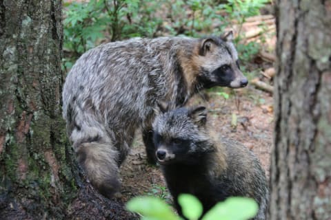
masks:
[[[232,32],[223,37],[162,37],[107,43],[83,54],[63,87],[63,117],[79,163],[99,192],[119,190],[119,165],[140,126],[155,162],[157,102],[185,104],[214,86],[245,87]]]

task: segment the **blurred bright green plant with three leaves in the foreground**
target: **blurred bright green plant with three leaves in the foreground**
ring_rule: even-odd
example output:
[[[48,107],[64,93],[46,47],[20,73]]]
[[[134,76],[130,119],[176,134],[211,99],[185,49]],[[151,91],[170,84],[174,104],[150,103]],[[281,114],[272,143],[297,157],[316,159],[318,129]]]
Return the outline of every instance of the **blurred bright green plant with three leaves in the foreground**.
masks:
[[[201,202],[193,195],[182,194],[179,196],[179,204],[183,215],[196,220],[203,212]],[[126,208],[131,212],[142,215],[143,220],[179,220],[181,217],[174,214],[170,206],[157,197],[135,197],[128,201]],[[202,220],[244,220],[251,219],[257,214],[259,207],[254,199],[244,197],[230,197],[217,203],[209,210]]]

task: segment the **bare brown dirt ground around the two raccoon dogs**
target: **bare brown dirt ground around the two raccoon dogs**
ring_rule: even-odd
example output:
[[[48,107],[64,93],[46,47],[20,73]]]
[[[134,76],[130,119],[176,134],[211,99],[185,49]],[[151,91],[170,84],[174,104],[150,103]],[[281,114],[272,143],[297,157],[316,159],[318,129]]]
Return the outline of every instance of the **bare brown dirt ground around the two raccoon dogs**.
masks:
[[[209,109],[208,123],[221,135],[231,137],[250,148],[261,160],[269,176],[272,146],[272,96],[249,85],[243,89],[225,89],[230,98],[225,100],[216,92],[195,96],[190,105],[203,105]],[[232,114],[237,115],[237,126],[232,125]],[[170,201],[161,170],[146,162],[146,153],[137,132],[132,151],[121,166],[121,200],[138,195],[154,195]]]

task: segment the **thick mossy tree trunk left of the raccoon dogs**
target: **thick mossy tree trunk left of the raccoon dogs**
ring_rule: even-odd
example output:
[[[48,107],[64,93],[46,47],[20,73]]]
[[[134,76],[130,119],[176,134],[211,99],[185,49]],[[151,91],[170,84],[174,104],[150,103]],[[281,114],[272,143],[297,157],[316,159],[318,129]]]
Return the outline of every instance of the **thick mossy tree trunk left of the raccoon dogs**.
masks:
[[[132,219],[74,161],[61,117],[61,21],[61,0],[0,0],[0,218]]]

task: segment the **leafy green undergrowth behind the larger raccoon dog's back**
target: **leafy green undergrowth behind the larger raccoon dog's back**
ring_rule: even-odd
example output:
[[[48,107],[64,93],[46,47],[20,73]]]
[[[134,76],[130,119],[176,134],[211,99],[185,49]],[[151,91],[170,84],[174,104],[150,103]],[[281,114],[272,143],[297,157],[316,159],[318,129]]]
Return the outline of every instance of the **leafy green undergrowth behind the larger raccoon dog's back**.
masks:
[[[220,3],[221,2],[221,3]],[[131,37],[219,35],[233,21],[259,14],[268,0],[90,0],[64,3],[63,67],[92,47]],[[235,42],[239,42],[239,32]],[[259,45],[237,45],[244,61]]]

